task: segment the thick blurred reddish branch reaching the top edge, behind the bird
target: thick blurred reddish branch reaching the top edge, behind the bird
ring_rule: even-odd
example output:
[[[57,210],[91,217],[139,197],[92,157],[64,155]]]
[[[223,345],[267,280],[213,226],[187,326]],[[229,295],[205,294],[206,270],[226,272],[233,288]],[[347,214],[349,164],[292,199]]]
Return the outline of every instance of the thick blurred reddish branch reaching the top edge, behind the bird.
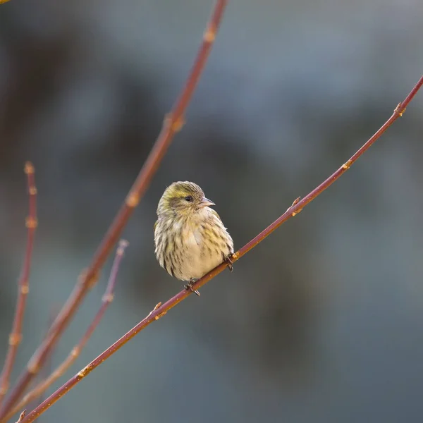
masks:
[[[51,326],[46,338],[44,338],[42,344],[39,346],[37,351],[35,351],[34,355],[32,355],[30,362],[27,364],[27,368],[20,375],[18,383],[15,388],[13,388],[13,391],[4,404],[4,407],[1,408],[0,419],[2,419],[21,398],[28,384],[30,384],[30,381],[32,381],[35,374],[37,374],[40,367],[44,364],[51,348],[54,347],[60,336],[66,330],[68,323],[78,310],[78,307],[85,298],[85,295],[87,295],[88,290],[90,290],[94,283],[96,283],[99,271],[102,269],[104,262],[106,262],[111,250],[114,245],[116,245],[118,238],[121,236],[123,228],[128,222],[130,215],[135,207],[137,207],[141,197],[145,194],[154,173],[156,173],[157,168],[159,168],[161,159],[163,159],[168,146],[171,144],[173,135],[175,135],[175,133],[183,127],[183,115],[185,114],[185,110],[187,109],[192,94],[195,91],[197,82],[200,80],[200,75],[202,74],[207,58],[209,57],[217,29],[223,17],[223,11],[226,7],[226,3],[227,0],[216,0],[212,17],[207,25],[207,30],[204,32],[202,44],[180,97],[173,106],[171,113],[164,119],[159,137],[154,143],[152,151],[149,153],[145,164],[142,166],[135,183],[125,199],[125,202],[116,215],[114,221],[111,223],[102,243],[100,243],[99,248],[92,259],[92,263],[87,271],[81,274],[73,293],[71,293],[71,296],[63,306],[63,309],[61,309],[59,316]]]

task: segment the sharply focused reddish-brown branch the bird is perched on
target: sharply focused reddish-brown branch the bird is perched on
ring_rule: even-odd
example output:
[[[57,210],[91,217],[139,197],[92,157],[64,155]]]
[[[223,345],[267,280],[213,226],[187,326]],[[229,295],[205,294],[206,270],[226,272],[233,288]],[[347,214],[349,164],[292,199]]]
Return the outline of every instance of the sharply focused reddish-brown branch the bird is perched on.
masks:
[[[417,82],[417,85],[412,89],[410,94],[407,95],[405,100],[398,104],[395,111],[393,111],[393,115],[384,123],[384,125],[381,126],[381,128],[351,157],[345,164],[343,164],[336,172],[334,172],[329,178],[324,180],[323,183],[321,183],[317,188],[314,188],[312,192],[307,194],[302,200],[295,200],[293,202],[293,205],[288,208],[288,210],[280,216],[274,223],[271,223],[270,226],[268,226],[264,231],[259,233],[254,239],[252,239],[249,243],[244,245],[240,250],[235,252],[231,257],[231,262],[236,262],[240,257],[243,257],[247,252],[252,250],[257,244],[261,243],[264,238],[269,236],[272,232],[276,230],[281,224],[290,217],[293,217],[301,212],[302,208],[305,207],[309,202],[314,200],[321,192],[326,190],[330,185],[332,185],[333,182],[335,182],[338,178],[347,171],[350,166],[357,161],[357,159],[367,150],[369,147],[376,142],[376,140],[386,131],[386,129],[389,128],[389,126],[392,125],[398,117],[403,116],[403,113],[405,111],[405,108],[410,103],[413,97],[415,97],[415,94],[419,90],[420,87],[423,85],[423,76],[420,78],[419,82]],[[219,264],[219,266],[216,266],[212,271],[210,271],[208,274],[204,275],[202,278],[200,278],[193,286],[192,289],[198,289],[201,286],[203,286],[205,283],[210,281],[214,276],[218,275],[223,271],[223,269],[228,266],[227,262],[223,262]],[[39,415],[42,415],[44,411],[49,409],[51,405],[56,403],[59,398],[61,398],[63,395],[68,393],[68,391],[71,391],[71,389],[79,384],[79,382],[85,378],[88,374],[92,372],[92,370],[99,367],[104,360],[107,360],[111,355],[114,355],[116,351],[118,351],[120,348],[125,345],[130,339],[132,339],[137,333],[142,331],[142,329],[145,329],[149,324],[151,324],[153,321],[156,321],[160,319],[161,317],[168,312],[169,309],[175,307],[179,302],[182,300],[185,300],[185,298],[188,297],[192,293],[191,290],[182,290],[180,293],[176,294],[173,298],[166,301],[164,304],[159,304],[154,307],[152,312],[150,312],[145,319],[142,319],[139,324],[133,327],[133,329],[130,329],[125,335],[123,335],[118,341],[116,341],[113,345],[111,345],[109,348],[107,348],[104,353],[100,354],[97,358],[92,360],[90,364],[88,364],[86,367],[84,367],[80,372],[75,374],[71,379],[69,379],[66,384],[63,384],[56,392],[51,394],[47,400],[45,400],[43,403],[41,403],[38,407],[36,407],[30,414],[28,414],[22,421],[22,423],[31,423],[34,422],[35,419],[39,417]]]

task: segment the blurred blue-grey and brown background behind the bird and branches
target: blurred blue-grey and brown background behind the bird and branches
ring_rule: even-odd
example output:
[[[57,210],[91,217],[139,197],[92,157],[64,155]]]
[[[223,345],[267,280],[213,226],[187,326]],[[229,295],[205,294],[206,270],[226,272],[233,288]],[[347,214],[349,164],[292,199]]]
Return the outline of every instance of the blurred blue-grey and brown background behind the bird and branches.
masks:
[[[147,157],[213,3],[0,6],[0,362],[25,248],[25,160],[35,164],[39,192],[14,377]],[[422,20],[418,0],[229,2],[187,124],[125,228],[115,301],[61,383],[182,288],[154,258],[166,185],[201,185],[241,247],[391,116],[422,75]],[[149,326],[40,421],[420,418],[422,116],[419,92],[341,180],[233,274]],[[53,366],[97,312],[110,266]]]

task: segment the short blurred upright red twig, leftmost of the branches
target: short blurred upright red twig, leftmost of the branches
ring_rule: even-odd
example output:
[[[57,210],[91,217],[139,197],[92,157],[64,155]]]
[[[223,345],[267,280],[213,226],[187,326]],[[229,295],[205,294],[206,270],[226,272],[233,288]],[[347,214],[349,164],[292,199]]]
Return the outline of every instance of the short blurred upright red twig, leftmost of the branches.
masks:
[[[22,273],[18,281],[18,299],[16,300],[15,317],[13,318],[12,331],[9,335],[9,347],[4,362],[4,367],[0,376],[0,405],[8,391],[9,379],[15,364],[18,346],[22,341],[22,324],[25,314],[27,295],[30,290],[30,268],[32,250],[34,247],[35,229],[37,228],[37,188],[35,187],[35,170],[32,163],[27,161],[24,171],[27,175],[27,190],[29,197],[29,214],[26,219],[27,245]]]

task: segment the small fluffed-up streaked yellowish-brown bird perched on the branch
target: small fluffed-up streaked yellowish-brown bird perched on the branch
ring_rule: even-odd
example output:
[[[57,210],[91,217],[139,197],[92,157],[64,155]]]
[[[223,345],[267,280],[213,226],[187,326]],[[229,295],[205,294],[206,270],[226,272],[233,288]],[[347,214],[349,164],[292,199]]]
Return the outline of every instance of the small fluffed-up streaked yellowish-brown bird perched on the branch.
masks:
[[[192,182],[174,182],[164,191],[154,223],[157,260],[168,274],[188,281],[185,289],[233,254],[233,240],[213,209],[214,202]]]

